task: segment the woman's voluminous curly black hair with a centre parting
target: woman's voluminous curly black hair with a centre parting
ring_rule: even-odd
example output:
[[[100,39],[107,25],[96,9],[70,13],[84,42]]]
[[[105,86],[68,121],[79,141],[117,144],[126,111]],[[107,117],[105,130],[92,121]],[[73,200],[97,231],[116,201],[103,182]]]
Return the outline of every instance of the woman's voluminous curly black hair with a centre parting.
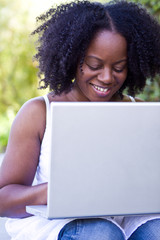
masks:
[[[100,30],[116,31],[128,46],[128,74],[120,89],[129,94],[143,90],[146,79],[160,74],[160,25],[140,4],[74,1],[52,7],[37,18],[41,25],[37,54],[41,88],[55,94],[70,91],[77,66],[82,70],[86,50]]]

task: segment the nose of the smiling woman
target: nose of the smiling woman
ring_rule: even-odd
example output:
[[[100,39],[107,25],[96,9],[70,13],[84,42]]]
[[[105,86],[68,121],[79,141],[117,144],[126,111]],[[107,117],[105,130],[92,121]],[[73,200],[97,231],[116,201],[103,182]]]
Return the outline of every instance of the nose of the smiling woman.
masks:
[[[110,68],[103,68],[98,74],[98,80],[104,84],[111,84],[113,82],[112,70]]]

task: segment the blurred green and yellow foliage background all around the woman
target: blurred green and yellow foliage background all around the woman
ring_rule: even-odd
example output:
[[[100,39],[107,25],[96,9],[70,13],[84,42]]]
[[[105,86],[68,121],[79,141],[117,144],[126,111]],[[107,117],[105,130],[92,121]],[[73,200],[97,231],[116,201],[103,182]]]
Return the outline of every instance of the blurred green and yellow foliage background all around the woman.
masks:
[[[144,4],[160,20],[159,0],[134,1]],[[58,0],[0,0],[0,152],[5,151],[12,121],[22,104],[46,93],[38,90],[37,64],[32,61],[35,39],[30,33],[36,27],[36,16],[59,3]],[[145,101],[160,101],[159,78],[153,83],[148,80],[139,96]]]

